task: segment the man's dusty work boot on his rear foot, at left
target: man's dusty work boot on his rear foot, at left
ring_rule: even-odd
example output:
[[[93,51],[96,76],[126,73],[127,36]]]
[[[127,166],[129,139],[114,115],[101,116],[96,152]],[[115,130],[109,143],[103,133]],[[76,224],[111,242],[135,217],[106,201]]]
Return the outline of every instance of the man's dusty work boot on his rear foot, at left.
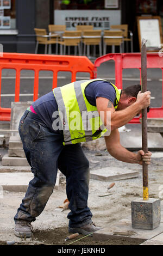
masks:
[[[14,234],[18,237],[31,237],[32,225],[30,222],[19,221],[15,224]]]

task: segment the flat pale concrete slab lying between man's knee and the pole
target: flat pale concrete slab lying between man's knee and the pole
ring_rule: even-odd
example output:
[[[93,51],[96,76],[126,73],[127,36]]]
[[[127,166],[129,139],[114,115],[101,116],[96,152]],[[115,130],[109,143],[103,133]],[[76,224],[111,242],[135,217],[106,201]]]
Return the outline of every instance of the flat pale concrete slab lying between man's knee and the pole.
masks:
[[[139,172],[131,169],[122,169],[120,167],[106,167],[97,170],[90,170],[90,179],[112,181],[137,178]]]

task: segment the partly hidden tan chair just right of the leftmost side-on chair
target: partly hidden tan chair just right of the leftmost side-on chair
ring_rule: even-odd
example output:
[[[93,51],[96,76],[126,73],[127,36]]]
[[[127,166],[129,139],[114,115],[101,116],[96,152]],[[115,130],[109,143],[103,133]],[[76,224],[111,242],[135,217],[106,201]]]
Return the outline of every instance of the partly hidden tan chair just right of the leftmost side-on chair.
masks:
[[[55,38],[57,40],[55,53],[58,54],[58,41],[61,40],[61,36],[66,30],[66,25],[48,25],[48,29],[49,29],[49,35],[54,34],[54,33],[57,34],[55,36]]]

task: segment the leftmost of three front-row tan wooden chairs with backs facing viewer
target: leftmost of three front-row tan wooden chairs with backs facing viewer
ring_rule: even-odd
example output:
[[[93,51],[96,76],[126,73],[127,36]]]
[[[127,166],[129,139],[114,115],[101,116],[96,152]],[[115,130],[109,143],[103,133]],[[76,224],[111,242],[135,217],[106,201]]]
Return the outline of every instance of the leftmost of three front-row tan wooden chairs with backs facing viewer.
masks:
[[[62,40],[59,41],[60,44],[60,54],[62,54],[62,46],[64,46],[64,55],[66,54],[66,46],[68,46],[68,55],[70,55],[70,47],[74,46],[74,54],[77,55],[77,47],[79,55],[82,55],[82,50],[80,47],[80,41],[82,39],[81,31],[65,31],[62,35]]]

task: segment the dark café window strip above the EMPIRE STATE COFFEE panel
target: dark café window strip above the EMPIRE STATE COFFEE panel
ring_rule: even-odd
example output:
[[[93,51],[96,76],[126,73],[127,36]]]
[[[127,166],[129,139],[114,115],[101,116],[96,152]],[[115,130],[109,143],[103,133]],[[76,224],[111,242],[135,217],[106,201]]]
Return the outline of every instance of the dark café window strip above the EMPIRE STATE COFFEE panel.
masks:
[[[108,3],[112,3],[113,7],[118,9],[118,0],[54,0],[55,10],[104,10]]]

